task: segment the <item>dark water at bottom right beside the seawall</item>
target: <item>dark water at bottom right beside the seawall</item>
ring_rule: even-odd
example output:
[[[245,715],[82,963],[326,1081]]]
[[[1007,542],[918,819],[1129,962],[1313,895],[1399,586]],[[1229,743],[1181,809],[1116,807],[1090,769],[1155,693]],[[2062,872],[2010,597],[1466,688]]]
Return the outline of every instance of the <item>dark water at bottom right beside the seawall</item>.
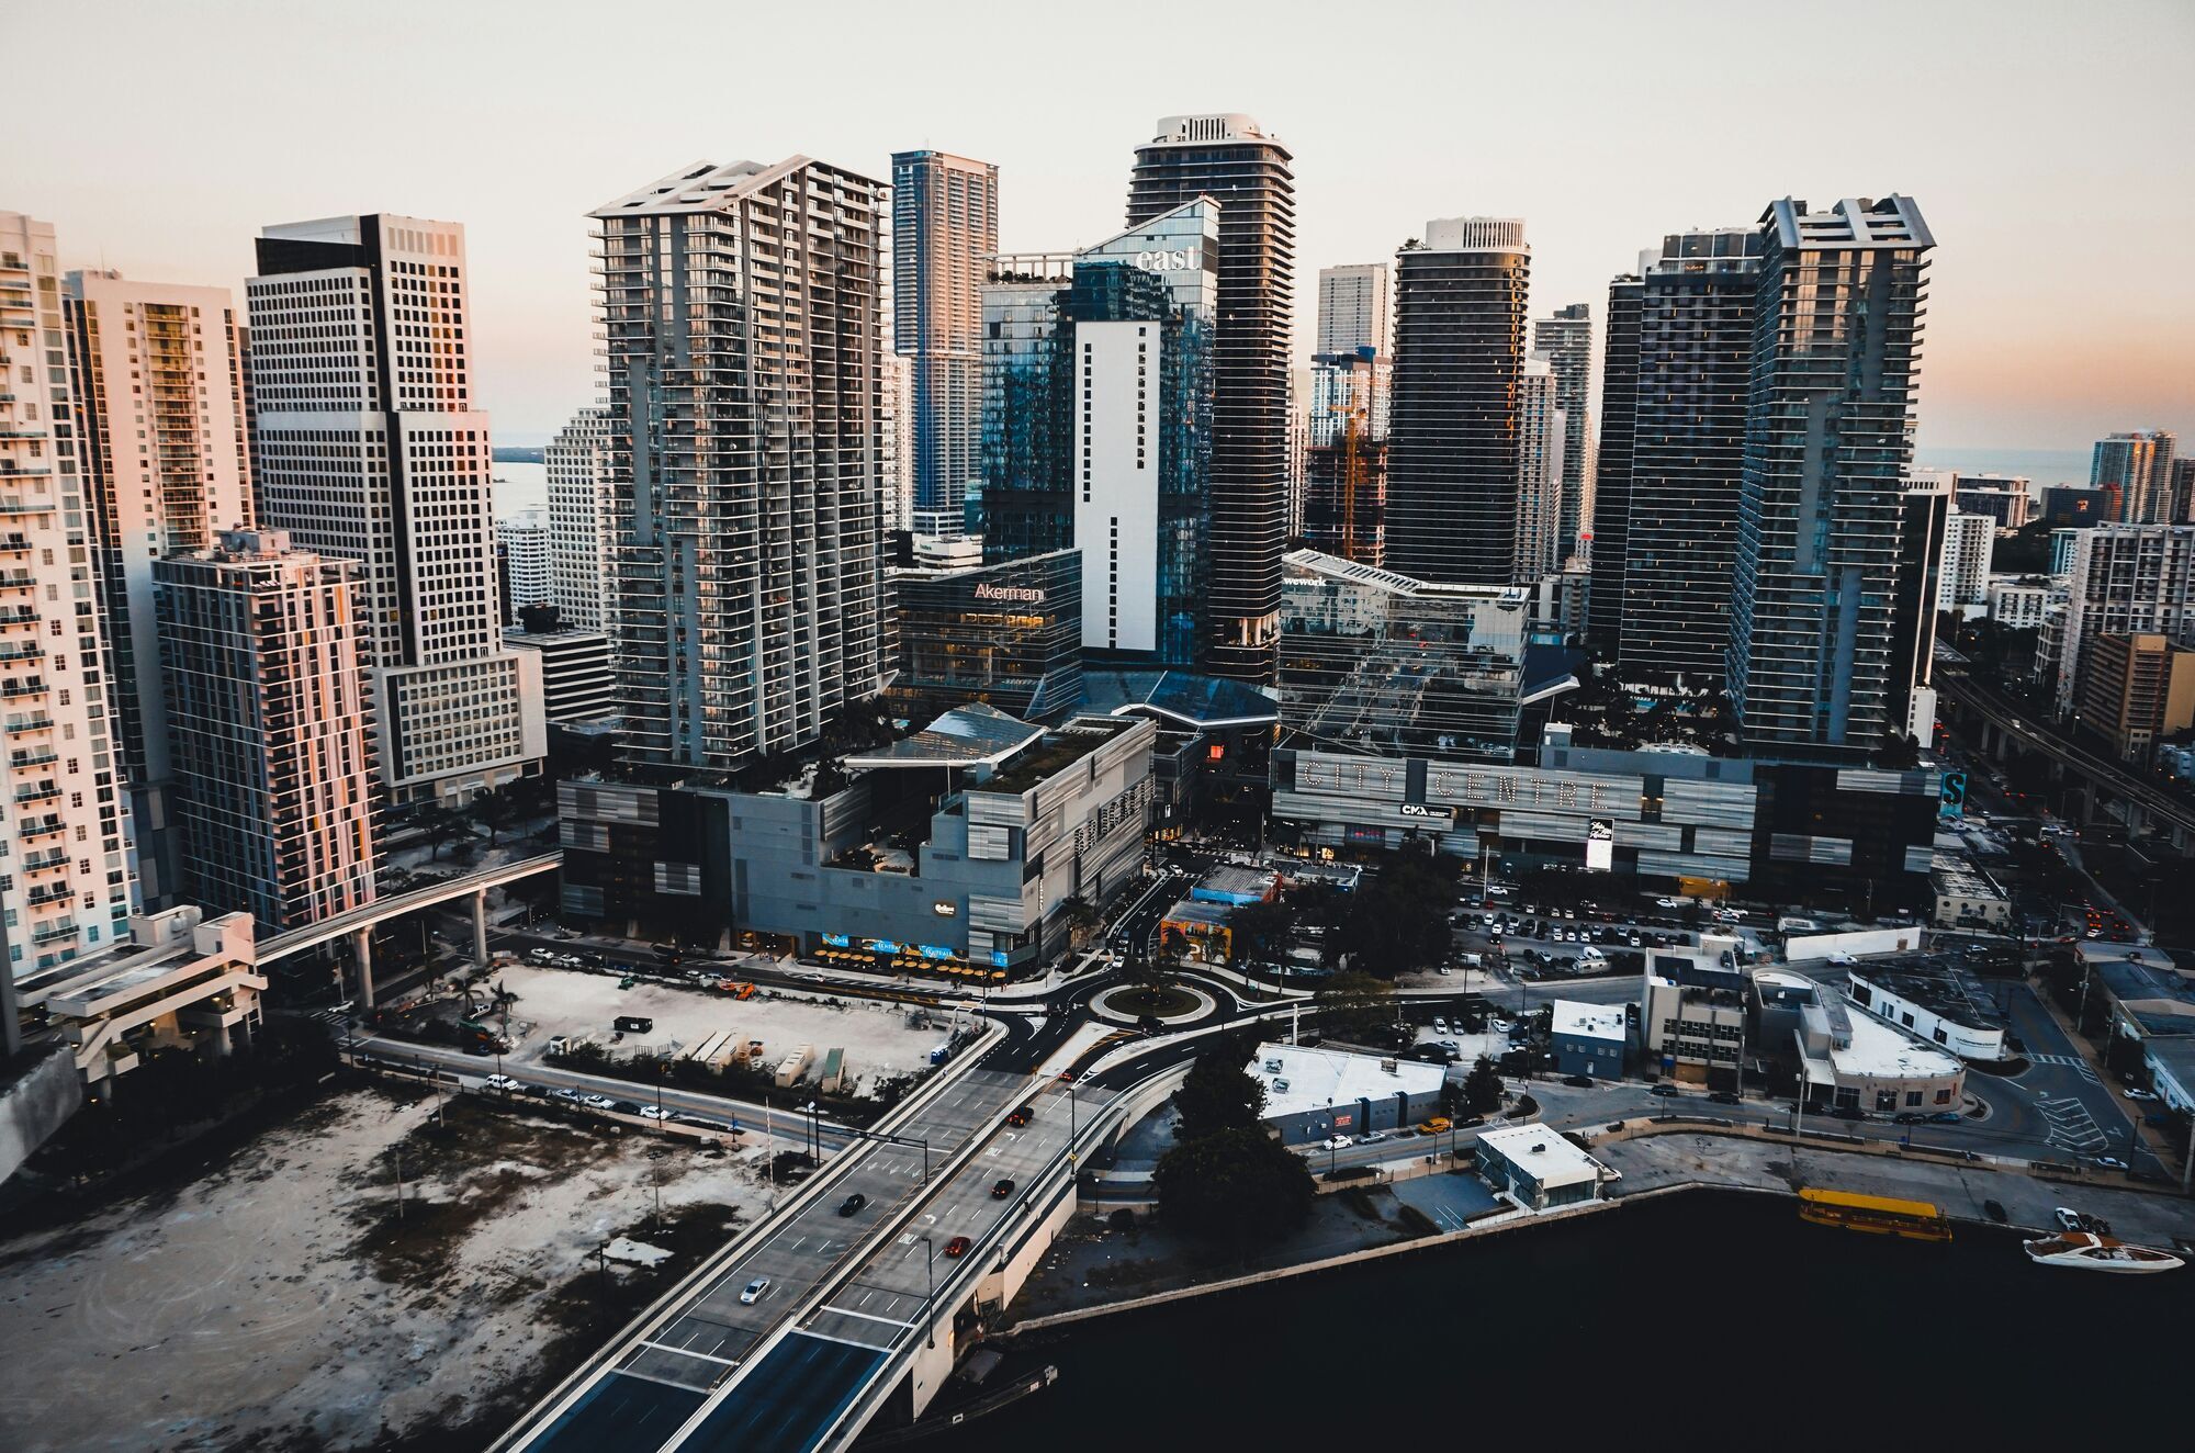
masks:
[[[2191,1332],[2195,1269],[2052,1271],[2011,1231],[1903,1242],[1690,1192],[1060,1328],[1003,1370],[1054,1387],[913,1446],[2188,1446]]]

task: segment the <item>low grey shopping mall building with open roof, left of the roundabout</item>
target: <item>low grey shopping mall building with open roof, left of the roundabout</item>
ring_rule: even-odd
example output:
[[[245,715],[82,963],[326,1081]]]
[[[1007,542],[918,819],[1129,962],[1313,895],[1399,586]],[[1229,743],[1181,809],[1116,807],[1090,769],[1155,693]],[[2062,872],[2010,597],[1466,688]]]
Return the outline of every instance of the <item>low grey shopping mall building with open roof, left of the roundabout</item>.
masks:
[[[759,788],[564,781],[564,913],[880,970],[1034,968],[1067,950],[1071,900],[1144,882],[1155,740],[975,705]]]

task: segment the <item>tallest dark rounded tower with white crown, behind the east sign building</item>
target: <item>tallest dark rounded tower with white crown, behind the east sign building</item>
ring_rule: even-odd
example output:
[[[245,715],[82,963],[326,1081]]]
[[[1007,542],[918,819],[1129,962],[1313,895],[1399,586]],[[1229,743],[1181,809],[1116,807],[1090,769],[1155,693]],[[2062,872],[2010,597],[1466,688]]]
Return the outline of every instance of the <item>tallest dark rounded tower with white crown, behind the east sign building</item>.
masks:
[[[1163,116],[1137,147],[1128,228],[1218,202],[1207,669],[1273,680],[1288,487],[1295,182],[1288,149],[1249,116]],[[1084,584],[1091,571],[1084,568]]]

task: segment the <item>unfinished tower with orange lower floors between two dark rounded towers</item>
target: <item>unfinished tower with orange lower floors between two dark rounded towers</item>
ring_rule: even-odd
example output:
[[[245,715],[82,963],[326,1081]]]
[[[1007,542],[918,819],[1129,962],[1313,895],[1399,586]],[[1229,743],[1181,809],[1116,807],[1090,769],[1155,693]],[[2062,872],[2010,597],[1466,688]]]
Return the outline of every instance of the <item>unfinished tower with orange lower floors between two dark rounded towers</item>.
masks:
[[[1304,421],[1304,544],[1378,566],[1387,549],[1387,399],[1392,369],[1370,347],[1319,353],[1299,369]]]

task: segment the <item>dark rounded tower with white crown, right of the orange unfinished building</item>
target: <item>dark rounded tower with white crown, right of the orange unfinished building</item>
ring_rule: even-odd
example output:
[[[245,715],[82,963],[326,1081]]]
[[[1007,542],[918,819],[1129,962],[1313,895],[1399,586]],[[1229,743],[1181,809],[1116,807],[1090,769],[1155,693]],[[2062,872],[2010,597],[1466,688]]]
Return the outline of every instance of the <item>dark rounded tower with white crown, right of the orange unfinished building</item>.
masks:
[[[1442,217],[1396,252],[1387,566],[1519,584],[1519,432],[1532,250],[1515,217]]]

